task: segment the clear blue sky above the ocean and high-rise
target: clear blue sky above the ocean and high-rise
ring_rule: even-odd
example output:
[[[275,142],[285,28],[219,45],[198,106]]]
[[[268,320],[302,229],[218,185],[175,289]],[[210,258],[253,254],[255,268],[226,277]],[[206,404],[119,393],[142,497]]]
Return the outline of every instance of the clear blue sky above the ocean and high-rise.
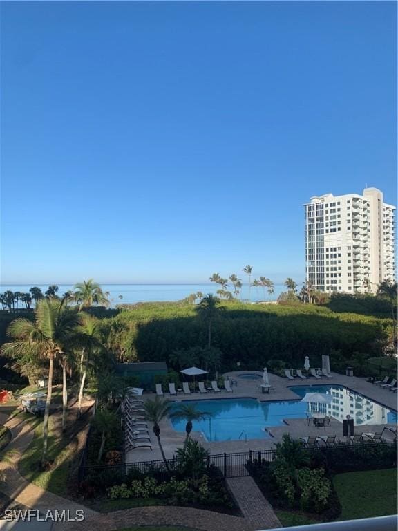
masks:
[[[303,280],[310,196],[395,203],[396,11],[1,3],[1,281]]]

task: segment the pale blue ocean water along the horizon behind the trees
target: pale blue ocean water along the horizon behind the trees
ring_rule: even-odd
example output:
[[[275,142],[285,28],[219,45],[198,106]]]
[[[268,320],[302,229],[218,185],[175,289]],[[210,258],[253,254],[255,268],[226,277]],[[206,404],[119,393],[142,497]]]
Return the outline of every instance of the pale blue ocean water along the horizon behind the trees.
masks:
[[[45,292],[48,288],[48,284],[0,284],[0,292],[3,293],[7,290],[12,292],[28,292],[29,288],[37,286],[41,288],[42,292]],[[59,284],[58,295],[64,295],[66,291],[73,290],[73,284]],[[219,285],[214,283],[205,284],[101,284],[102,290],[108,291],[109,301],[111,306],[116,304],[134,304],[136,302],[154,302],[154,301],[180,301],[185,297],[196,293],[202,292],[204,295],[212,293],[216,295],[217,290],[220,289]],[[274,287],[275,292],[272,295],[268,295],[267,290],[263,288],[250,289],[250,300],[254,301],[276,301],[278,295],[285,290],[283,284],[276,284]],[[249,299],[249,286],[243,285],[241,292],[243,299]],[[21,303],[19,303],[21,305]]]

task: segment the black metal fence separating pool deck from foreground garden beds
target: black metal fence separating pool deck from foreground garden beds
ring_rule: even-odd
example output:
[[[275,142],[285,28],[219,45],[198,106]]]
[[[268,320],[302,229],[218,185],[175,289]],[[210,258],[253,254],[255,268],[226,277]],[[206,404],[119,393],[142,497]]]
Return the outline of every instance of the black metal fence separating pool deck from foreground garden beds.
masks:
[[[383,463],[397,463],[397,443],[359,443],[341,444],[330,447],[317,447],[309,449],[311,453],[319,452],[323,455],[325,462],[334,470],[350,471],[350,467],[359,469],[361,465],[368,463],[369,467],[383,468]],[[252,466],[263,466],[271,463],[275,458],[275,449],[261,451],[243,451],[236,453],[215,454],[205,458],[205,465],[217,467],[225,478],[237,478],[249,476],[249,468]],[[140,461],[137,463],[122,463],[120,465],[86,465],[84,456],[79,467],[79,482],[85,478],[102,476],[102,474],[115,476],[127,476],[133,470],[141,473],[156,472],[157,474],[169,474],[170,471],[178,469],[178,459],[168,459],[167,467],[163,460]],[[249,465],[249,466],[247,466]]]

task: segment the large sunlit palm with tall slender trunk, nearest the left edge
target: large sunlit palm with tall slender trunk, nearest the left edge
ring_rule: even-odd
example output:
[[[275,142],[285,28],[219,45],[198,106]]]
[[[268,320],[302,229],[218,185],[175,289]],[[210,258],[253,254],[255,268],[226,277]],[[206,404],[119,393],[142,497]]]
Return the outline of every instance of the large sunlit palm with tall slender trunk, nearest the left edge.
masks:
[[[7,329],[7,335],[15,342],[1,346],[3,355],[21,355],[32,352],[48,360],[48,389],[43,422],[43,451],[41,465],[46,463],[48,447],[48,417],[50,416],[53,391],[54,359],[66,352],[70,337],[80,324],[80,315],[73,308],[64,306],[58,299],[43,299],[35,308],[35,322],[15,319]]]

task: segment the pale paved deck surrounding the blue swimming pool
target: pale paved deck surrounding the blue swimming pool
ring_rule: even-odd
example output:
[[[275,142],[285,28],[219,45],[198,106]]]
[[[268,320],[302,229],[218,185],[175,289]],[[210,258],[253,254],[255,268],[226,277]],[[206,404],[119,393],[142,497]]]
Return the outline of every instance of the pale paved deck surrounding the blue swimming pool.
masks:
[[[233,388],[234,393],[227,393],[226,391],[221,391],[220,393],[209,392],[206,394],[191,393],[190,395],[178,393],[178,395],[175,396],[170,396],[169,393],[165,393],[164,397],[169,398],[173,402],[179,402],[181,400],[214,400],[216,398],[254,398],[260,402],[269,402],[275,400],[298,400],[296,393],[290,391],[289,387],[298,385],[308,386],[333,384],[345,386],[354,393],[361,393],[373,402],[378,402],[379,404],[386,406],[387,409],[393,409],[395,411],[397,410],[397,393],[392,393],[391,391],[388,391],[388,389],[382,389],[379,386],[371,384],[366,378],[352,378],[345,375],[332,373],[332,379],[323,377],[321,379],[307,378],[307,380],[301,380],[300,378],[295,378],[294,380],[288,380],[287,378],[281,378],[274,374],[269,374],[269,384],[275,388],[275,392],[268,395],[258,392],[258,386],[262,383],[261,380],[244,380],[242,378],[238,378],[240,373],[248,372],[258,373],[258,375],[261,377],[263,376],[263,371],[235,371],[233,373],[225,373],[225,376],[229,376],[229,378],[233,378],[238,382],[238,385],[234,386]],[[148,393],[144,394],[142,398],[145,400],[145,398],[153,398],[154,396],[154,393]],[[272,437],[267,439],[249,439],[247,442],[245,442],[245,440],[224,440],[209,443],[199,432],[193,431],[191,436],[196,440],[200,440],[200,443],[202,443],[202,445],[209,450],[211,454],[249,451],[249,449],[254,451],[260,449],[271,449],[274,447],[274,443],[277,443],[282,439],[283,434],[290,434],[293,438],[300,438],[310,435],[336,435],[338,439],[343,438],[343,425],[334,418],[331,419],[330,427],[314,427],[313,425],[307,426],[307,420],[305,418],[286,419],[284,422],[286,423],[285,425],[267,428],[272,434]],[[396,427],[396,425],[393,424],[367,424],[355,426],[354,431],[356,434],[361,434],[363,431],[382,431],[383,427],[385,426],[390,426],[393,428]],[[126,452],[126,463],[158,460],[162,458],[150,423],[149,429],[153,450],[135,449],[128,451]],[[173,429],[169,419],[164,419],[162,421],[160,424],[160,429],[160,439],[164,447],[164,453],[166,454],[167,458],[172,458],[176,449],[182,447],[184,444],[184,433]],[[244,429],[244,425],[242,429]],[[387,438],[387,432],[385,433],[385,436]],[[390,436],[393,438],[392,434],[390,434]]]

